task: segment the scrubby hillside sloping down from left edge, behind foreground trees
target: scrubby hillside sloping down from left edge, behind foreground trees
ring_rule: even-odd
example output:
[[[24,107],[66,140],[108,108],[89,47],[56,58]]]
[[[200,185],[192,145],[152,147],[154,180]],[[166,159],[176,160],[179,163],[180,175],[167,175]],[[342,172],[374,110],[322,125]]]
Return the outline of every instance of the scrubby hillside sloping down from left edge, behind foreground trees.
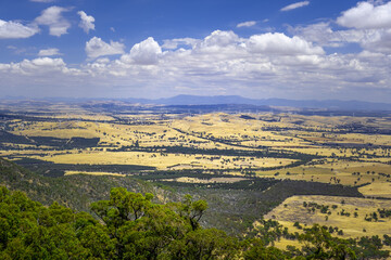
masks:
[[[86,174],[64,178],[48,178],[30,172],[16,164],[0,158],[0,184],[10,190],[20,190],[43,205],[59,202],[77,210],[88,210],[91,202],[105,199],[110,190],[116,186],[128,191],[166,193],[162,188],[126,177],[93,177]],[[165,196],[156,196],[164,198]]]

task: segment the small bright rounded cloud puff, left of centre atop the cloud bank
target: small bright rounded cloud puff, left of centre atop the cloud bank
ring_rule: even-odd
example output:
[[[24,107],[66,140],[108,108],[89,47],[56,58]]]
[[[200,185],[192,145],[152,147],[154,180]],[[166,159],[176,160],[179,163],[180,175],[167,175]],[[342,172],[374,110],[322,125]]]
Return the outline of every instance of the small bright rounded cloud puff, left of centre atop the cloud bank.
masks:
[[[136,64],[152,65],[157,63],[161,55],[161,47],[152,37],[149,37],[147,40],[136,43],[130,53],[122,57],[122,61],[129,62],[131,60]]]

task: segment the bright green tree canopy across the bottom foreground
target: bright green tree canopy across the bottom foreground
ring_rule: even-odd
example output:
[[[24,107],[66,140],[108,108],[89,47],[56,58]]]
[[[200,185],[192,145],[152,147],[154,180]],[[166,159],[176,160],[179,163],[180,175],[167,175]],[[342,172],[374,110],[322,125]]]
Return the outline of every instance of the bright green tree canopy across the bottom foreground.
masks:
[[[315,225],[299,239],[304,247],[273,246],[281,232],[264,222],[247,239],[202,229],[204,200],[157,205],[153,195],[111,191],[110,200],[91,205],[93,218],[58,203],[45,207],[22,192],[0,187],[0,259],[356,259],[387,257],[376,237],[345,240]],[[98,220],[97,220],[98,219]],[[274,226],[274,229],[269,229]]]

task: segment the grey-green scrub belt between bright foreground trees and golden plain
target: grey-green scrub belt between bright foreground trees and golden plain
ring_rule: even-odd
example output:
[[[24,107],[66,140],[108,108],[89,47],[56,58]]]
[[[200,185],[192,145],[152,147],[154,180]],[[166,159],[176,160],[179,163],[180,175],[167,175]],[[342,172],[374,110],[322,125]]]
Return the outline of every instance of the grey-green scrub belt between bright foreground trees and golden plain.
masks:
[[[356,187],[303,181],[275,181],[249,178],[237,183],[177,183],[164,179],[188,176],[211,178],[194,171],[150,172],[135,177],[66,176],[47,178],[0,158],[0,183],[21,190],[33,199],[50,205],[58,202],[76,210],[90,211],[92,202],[108,199],[116,186],[128,191],[152,193],[154,202],[178,202],[190,194],[205,199],[211,209],[201,220],[203,226],[218,227],[229,234],[245,233],[252,223],[292,195],[362,196]],[[140,178],[141,180],[138,180]],[[210,185],[210,186],[209,186]]]

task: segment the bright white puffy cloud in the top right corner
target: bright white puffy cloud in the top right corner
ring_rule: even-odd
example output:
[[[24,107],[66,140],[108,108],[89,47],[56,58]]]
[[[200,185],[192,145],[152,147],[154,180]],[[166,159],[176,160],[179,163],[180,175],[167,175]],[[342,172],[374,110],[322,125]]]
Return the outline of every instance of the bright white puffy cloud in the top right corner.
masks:
[[[375,5],[370,2],[358,2],[337,18],[341,26],[356,29],[391,28],[391,2]]]

